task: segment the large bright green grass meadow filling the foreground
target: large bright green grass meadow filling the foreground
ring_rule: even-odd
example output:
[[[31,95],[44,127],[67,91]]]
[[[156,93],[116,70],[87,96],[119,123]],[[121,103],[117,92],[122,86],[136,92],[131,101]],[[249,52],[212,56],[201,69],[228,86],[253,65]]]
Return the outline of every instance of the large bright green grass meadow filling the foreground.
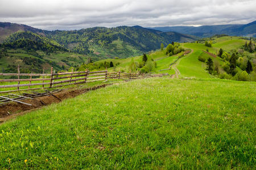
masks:
[[[151,78],[91,91],[0,125],[0,167],[254,169],[255,87]]]

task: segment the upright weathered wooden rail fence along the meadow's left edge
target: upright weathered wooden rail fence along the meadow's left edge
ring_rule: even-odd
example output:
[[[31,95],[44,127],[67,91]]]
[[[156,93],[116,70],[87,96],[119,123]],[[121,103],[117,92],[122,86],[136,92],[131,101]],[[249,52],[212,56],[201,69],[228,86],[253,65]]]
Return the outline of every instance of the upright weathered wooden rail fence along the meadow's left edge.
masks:
[[[19,69],[18,69],[19,70]],[[18,79],[0,79],[0,82],[18,82],[17,84],[4,84],[0,88],[17,88],[16,90],[0,91],[0,94],[14,91],[24,90],[38,90],[42,88],[57,88],[62,86],[69,86],[72,84],[82,84],[89,82],[96,82],[107,79],[138,79],[143,78],[144,75],[133,73],[112,72],[104,71],[75,71],[65,73],[55,73],[51,68],[50,74],[35,74],[35,73],[0,73],[0,76],[18,76]],[[30,78],[21,79],[20,76],[28,76]],[[39,76],[39,78],[32,78]],[[25,82],[22,84],[20,82]],[[32,83],[35,82],[35,83]],[[56,86],[57,84],[57,86]],[[31,88],[32,86],[42,86]],[[20,87],[27,87],[20,89]]]

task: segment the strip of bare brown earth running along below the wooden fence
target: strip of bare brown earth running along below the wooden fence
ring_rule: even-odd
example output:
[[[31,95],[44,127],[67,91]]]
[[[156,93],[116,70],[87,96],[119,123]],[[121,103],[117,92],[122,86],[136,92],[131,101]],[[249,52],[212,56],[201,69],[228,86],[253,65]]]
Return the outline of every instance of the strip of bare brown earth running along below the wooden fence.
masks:
[[[44,105],[49,105],[52,103],[59,103],[63,99],[75,97],[81,95],[85,92],[96,90],[98,88],[106,87],[109,84],[102,84],[100,86],[91,87],[91,88],[83,88],[83,89],[74,89],[74,90],[63,90],[60,92],[56,92],[54,95],[56,96],[41,96],[36,97],[34,100],[22,100],[24,103],[31,104],[32,106],[11,102],[6,105],[0,105],[0,123],[1,121],[5,121],[4,118],[9,117],[13,114],[28,111],[35,108],[40,108]]]

